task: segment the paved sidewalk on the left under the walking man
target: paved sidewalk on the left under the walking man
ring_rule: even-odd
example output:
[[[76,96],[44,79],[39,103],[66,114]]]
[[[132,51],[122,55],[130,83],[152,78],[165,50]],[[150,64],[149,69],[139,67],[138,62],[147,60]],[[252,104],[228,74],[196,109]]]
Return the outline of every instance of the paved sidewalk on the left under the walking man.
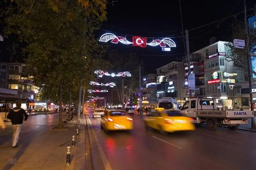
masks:
[[[68,118],[62,114],[62,120]],[[76,120],[74,116],[73,120]],[[73,170],[78,169],[83,162],[76,161],[78,147],[84,144],[85,123],[81,123],[79,141],[75,137],[76,145],[71,148],[71,164],[66,166],[66,146],[71,146],[72,135],[78,128],[75,123],[64,124],[69,126],[68,130],[51,130],[58,126],[59,115],[36,115],[31,116],[23,123],[20,134],[19,147],[12,148],[12,125],[0,130],[0,169],[1,170]],[[77,143],[78,142],[78,143]],[[13,162],[12,162],[13,161]],[[79,164],[75,164],[75,162]],[[80,169],[80,168],[79,168]]]

